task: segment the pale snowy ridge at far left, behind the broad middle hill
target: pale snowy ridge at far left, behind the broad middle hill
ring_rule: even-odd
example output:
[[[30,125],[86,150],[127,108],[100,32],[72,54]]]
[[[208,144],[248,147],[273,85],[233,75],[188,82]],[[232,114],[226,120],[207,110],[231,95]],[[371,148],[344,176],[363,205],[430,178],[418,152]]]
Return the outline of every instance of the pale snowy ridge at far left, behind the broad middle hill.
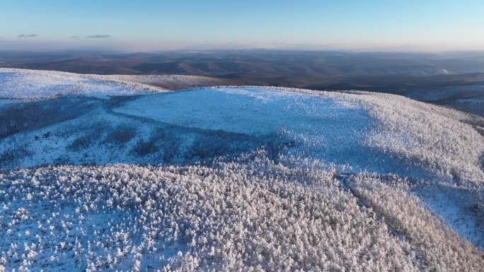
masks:
[[[104,76],[0,68],[0,97],[35,100],[55,95],[140,95],[220,82],[204,76]]]

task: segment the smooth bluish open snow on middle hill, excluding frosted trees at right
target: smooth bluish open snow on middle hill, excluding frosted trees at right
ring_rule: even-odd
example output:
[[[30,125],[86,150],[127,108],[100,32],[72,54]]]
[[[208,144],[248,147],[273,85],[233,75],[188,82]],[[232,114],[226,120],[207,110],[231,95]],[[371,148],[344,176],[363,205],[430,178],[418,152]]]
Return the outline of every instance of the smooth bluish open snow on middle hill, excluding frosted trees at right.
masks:
[[[262,138],[281,152],[350,170],[411,172],[401,162],[364,145],[374,122],[357,103],[270,88],[201,88],[149,95],[115,112],[204,130]],[[276,154],[273,154],[276,155]]]

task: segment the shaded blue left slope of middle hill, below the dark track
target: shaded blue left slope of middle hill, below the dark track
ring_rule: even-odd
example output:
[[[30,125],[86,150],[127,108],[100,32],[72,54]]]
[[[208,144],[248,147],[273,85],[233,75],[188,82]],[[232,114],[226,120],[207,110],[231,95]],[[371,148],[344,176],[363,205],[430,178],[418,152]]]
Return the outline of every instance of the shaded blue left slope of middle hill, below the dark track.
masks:
[[[188,163],[248,152],[263,144],[256,138],[223,131],[212,133],[113,114],[99,100],[88,101],[93,109],[79,117],[0,138],[0,169]],[[137,152],[142,142],[152,144],[152,150]]]

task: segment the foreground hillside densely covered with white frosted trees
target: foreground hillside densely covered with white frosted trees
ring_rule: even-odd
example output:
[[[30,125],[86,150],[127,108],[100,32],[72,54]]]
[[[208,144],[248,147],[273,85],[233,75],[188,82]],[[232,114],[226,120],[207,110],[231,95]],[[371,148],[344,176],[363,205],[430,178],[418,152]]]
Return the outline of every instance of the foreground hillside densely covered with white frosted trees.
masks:
[[[7,271],[482,268],[482,252],[405,191],[359,176],[355,186],[370,207],[362,208],[335,170],[317,168],[284,167],[256,153],[206,166],[0,172],[0,265]]]

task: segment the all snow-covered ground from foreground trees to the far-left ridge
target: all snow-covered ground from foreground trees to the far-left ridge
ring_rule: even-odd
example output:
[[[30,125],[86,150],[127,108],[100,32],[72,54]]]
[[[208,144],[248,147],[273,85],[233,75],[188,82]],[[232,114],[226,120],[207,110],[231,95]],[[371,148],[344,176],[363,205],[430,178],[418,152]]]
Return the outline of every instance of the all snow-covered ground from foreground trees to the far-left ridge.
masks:
[[[0,69],[0,271],[484,267],[479,117],[163,81]]]

